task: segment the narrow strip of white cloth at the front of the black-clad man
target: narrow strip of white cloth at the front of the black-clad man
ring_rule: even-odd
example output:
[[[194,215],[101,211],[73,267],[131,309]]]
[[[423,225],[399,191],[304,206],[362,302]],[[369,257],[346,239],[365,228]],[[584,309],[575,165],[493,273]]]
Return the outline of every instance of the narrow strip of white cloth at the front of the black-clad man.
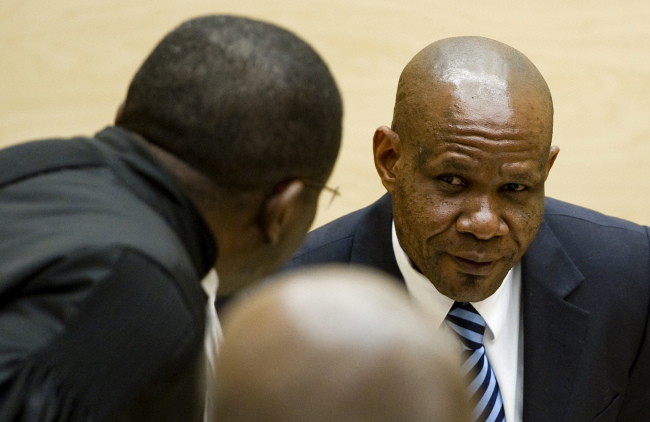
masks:
[[[208,295],[208,303],[205,310],[205,410],[203,413],[204,422],[215,420],[215,394],[216,394],[216,360],[219,351],[219,343],[223,337],[221,324],[217,318],[215,300],[217,298],[217,289],[219,288],[219,278],[217,272],[212,269],[201,280],[201,287]]]

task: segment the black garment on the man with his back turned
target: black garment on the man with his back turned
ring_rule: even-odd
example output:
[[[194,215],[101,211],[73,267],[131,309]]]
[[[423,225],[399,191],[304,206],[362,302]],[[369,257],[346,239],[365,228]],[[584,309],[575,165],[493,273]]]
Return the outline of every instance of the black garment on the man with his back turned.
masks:
[[[201,419],[216,246],[131,134],[0,151],[0,240],[0,420]]]

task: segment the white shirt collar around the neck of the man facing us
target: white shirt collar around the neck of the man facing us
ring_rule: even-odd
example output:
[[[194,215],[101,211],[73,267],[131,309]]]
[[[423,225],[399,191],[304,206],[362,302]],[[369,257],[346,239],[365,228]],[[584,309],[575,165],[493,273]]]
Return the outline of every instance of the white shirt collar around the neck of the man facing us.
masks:
[[[393,252],[397,265],[404,277],[411,299],[429,315],[435,326],[440,326],[445,320],[454,300],[440,293],[422,273],[415,270],[411,260],[402,249],[397,239],[395,222],[392,228]],[[516,300],[514,293],[515,283],[521,283],[521,263],[518,262],[510,269],[501,286],[492,296],[472,305],[481,314],[487,324],[485,335],[491,340],[496,339],[501,332],[510,307]]]

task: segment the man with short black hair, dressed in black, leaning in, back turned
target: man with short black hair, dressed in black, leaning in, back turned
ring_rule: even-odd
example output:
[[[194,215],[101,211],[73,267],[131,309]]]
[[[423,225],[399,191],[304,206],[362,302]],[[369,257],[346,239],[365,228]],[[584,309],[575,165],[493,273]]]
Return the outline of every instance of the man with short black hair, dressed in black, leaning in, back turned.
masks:
[[[303,240],[341,115],[304,41],[206,16],[158,44],[116,126],[1,151],[0,420],[201,420],[217,284]]]

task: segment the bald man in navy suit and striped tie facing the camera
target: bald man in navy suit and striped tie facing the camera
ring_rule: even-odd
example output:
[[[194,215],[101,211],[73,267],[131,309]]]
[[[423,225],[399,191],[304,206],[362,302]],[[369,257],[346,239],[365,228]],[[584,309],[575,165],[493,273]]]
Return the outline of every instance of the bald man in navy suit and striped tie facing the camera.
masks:
[[[552,131],[549,88],[521,52],[481,37],[429,45],[375,132],[388,193],[310,233],[287,268],[369,265],[434,326],[479,318],[475,420],[646,421],[649,230],[545,197]]]

